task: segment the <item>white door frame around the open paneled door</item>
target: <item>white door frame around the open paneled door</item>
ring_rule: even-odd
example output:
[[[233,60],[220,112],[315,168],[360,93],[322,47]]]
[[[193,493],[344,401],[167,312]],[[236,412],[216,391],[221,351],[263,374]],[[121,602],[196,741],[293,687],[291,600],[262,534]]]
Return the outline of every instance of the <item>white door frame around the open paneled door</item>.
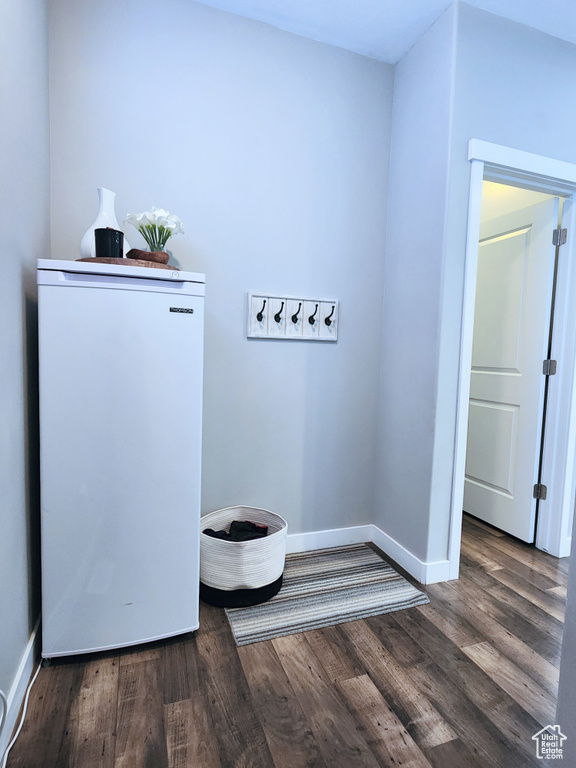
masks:
[[[570,554],[571,522],[576,497],[576,397],[573,397],[576,384],[576,164],[479,139],[470,140],[468,160],[470,191],[448,544],[450,579],[458,578],[460,567],[474,302],[484,179],[548,192],[562,196],[565,200],[562,226],[568,228],[569,235],[566,245],[560,251],[553,340],[553,355],[560,364],[558,373],[551,377],[548,393],[542,472],[543,482],[548,486],[548,497],[539,505],[535,542],[539,549],[556,557]]]

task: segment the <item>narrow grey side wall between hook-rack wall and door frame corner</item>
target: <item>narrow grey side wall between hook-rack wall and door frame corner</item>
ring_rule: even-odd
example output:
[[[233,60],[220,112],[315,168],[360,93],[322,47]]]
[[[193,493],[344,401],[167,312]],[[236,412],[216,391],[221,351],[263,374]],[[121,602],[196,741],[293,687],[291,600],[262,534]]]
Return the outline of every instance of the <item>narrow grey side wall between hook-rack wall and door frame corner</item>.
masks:
[[[446,557],[429,510],[454,39],[450,8],[394,74],[374,522],[424,561]]]

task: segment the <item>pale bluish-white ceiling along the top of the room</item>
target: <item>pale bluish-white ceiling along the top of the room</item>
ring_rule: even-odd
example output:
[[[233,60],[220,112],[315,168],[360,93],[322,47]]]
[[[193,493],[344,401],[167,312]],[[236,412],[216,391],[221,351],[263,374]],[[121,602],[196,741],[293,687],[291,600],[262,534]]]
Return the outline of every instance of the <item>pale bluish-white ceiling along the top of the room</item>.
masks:
[[[395,64],[450,0],[201,0],[322,43]],[[574,0],[467,0],[576,43]]]

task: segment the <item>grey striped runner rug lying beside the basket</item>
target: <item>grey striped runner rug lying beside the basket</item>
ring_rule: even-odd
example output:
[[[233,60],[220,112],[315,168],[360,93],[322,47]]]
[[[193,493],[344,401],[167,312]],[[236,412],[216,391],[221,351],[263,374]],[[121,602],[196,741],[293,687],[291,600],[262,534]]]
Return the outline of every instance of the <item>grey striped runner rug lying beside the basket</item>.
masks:
[[[350,544],[288,555],[275,597],[226,615],[236,645],[248,645],[428,602],[366,544]]]

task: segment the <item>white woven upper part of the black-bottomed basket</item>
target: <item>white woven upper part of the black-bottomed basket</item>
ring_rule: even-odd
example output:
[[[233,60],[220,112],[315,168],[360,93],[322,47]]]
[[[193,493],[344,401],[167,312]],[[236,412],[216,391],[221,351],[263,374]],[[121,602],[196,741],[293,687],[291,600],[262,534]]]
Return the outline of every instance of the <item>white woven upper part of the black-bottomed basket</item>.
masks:
[[[225,541],[200,536],[200,581],[232,591],[259,589],[277,581],[284,571],[288,525],[280,515],[257,507],[226,507],[204,515],[202,531],[230,529],[233,520],[268,526],[268,535],[251,541]]]

